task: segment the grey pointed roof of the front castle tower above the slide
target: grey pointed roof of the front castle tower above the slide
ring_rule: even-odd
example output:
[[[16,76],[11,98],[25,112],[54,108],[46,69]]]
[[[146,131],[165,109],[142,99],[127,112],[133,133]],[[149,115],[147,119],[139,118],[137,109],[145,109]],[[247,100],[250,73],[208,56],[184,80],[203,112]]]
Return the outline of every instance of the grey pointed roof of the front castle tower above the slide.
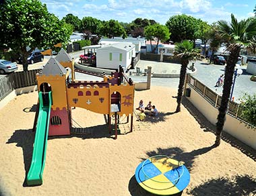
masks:
[[[42,69],[42,75],[58,75],[63,76],[67,73],[67,70],[59,64],[59,62],[51,57]]]

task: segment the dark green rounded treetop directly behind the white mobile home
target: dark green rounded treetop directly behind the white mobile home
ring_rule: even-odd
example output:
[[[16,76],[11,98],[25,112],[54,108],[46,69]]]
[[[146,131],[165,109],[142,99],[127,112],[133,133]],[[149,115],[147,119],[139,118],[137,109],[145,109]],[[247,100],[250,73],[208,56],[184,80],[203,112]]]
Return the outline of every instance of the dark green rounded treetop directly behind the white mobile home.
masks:
[[[119,21],[114,19],[110,19],[109,21],[103,21],[100,32],[103,36],[107,36],[108,38],[114,38],[115,36],[122,36],[123,38],[127,37],[123,26],[121,26]]]

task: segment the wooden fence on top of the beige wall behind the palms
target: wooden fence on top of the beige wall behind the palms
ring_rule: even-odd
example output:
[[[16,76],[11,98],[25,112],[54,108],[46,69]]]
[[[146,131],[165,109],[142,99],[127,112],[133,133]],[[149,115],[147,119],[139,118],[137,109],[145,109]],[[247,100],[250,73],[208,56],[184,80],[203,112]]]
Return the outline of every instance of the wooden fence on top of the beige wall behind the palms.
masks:
[[[203,83],[201,83],[191,75],[188,75],[188,84],[190,87],[193,87],[195,91],[200,93],[214,107],[220,107],[222,97],[212,91],[212,89],[206,87],[205,85],[203,85]],[[243,119],[243,117],[241,116],[242,111],[243,107],[241,106],[241,104],[234,101],[228,101],[228,113],[234,115],[235,117]]]

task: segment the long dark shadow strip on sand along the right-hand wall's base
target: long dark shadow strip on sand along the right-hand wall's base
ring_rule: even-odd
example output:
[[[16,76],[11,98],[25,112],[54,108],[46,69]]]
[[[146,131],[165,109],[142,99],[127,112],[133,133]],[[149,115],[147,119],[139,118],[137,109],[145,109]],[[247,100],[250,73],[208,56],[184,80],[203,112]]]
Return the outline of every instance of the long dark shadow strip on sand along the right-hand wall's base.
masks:
[[[213,134],[216,134],[216,126],[211,124],[210,121],[208,121],[206,117],[201,114],[200,111],[189,100],[183,97],[182,104],[189,111],[189,113],[195,117],[200,125],[200,128],[202,128],[204,132],[212,132]],[[253,148],[247,146],[226,132],[222,132],[222,140],[228,142],[231,144],[231,146],[237,148],[238,150],[241,150],[241,152],[256,161],[256,150]]]

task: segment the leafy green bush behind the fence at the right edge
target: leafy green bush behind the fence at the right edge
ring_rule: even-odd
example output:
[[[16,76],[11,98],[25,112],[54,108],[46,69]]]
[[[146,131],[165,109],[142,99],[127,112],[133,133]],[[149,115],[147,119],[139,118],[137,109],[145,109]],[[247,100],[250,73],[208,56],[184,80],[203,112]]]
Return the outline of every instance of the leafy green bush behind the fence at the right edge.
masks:
[[[243,110],[242,110],[242,117],[245,119],[249,124],[256,126],[256,94],[254,95],[245,95],[243,96],[243,102],[241,103]]]

